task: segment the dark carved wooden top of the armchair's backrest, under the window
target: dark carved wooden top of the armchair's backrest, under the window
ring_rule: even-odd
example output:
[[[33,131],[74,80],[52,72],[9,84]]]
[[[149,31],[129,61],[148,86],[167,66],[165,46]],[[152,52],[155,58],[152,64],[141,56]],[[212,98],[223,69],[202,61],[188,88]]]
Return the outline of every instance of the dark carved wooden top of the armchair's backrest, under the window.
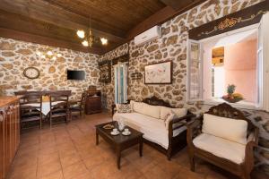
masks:
[[[239,109],[231,107],[227,103],[222,103],[218,106],[211,107],[209,111],[207,111],[205,114],[209,115],[217,115],[221,117],[227,117],[235,120],[245,120],[247,121],[247,131],[252,131],[255,128],[255,125],[247,119],[247,117],[239,111]]]

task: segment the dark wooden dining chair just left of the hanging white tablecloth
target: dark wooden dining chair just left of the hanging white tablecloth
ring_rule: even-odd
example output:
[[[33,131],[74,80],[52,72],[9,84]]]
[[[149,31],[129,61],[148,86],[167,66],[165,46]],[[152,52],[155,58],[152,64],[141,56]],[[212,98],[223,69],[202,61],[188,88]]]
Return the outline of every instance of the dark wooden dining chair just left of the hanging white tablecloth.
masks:
[[[25,124],[39,122],[39,128],[42,128],[42,97],[38,94],[25,95],[20,100],[21,109],[21,126],[24,128]]]

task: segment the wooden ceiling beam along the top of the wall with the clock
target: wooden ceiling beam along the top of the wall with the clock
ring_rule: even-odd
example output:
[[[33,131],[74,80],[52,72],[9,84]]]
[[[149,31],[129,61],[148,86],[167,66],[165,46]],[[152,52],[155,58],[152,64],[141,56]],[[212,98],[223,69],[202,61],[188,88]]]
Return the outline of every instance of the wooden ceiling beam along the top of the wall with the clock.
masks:
[[[68,49],[81,51],[85,53],[91,53],[91,54],[97,54],[97,55],[103,54],[103,51],[101,48],[82,47],[82,45],[77,44],[77,43],[67,42],[64,40],[56,39],[56,38],[47,38],[47,37],[25,33],[25,32],[17,31],[17,30],[0,28],[0,36],[3,38],[13,38],[13,39],[26,41],[26,42],[32,42],[32,43],[37,43],[37,44],[42,44],[42,45],[47,45],[47,46],[52,46],[52,47],[68,48]]]

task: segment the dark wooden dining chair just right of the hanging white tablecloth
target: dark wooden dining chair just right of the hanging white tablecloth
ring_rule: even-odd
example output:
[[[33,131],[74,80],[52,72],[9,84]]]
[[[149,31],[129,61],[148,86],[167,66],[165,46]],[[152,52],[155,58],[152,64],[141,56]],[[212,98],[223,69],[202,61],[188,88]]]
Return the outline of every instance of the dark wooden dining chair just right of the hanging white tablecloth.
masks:
[[[69,119],[69,104],[68,95],[55,93],[50,94],[50,111],[49,111],[49,124],[52,127],[53,121],[59,118],[65,118],[65,123]]]

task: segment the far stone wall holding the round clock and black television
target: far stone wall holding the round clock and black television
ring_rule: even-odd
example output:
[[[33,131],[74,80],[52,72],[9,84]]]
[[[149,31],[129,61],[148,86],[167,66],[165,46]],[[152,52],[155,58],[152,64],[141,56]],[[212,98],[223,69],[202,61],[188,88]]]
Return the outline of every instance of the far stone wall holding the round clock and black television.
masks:
[[[37,51],[59,53],[56,60],[42,59]],[[7,95],[17,90],[72,90],[72,98],[81,98],[82,91],[89,85],[99,84],[99,55],[77,52],[59,47],[0,38],[0,89]],[[29,66],[39,69],[38,79],[30,80],[23,75]],[[83,70],[83,81],[67,81],[66,70]]]

